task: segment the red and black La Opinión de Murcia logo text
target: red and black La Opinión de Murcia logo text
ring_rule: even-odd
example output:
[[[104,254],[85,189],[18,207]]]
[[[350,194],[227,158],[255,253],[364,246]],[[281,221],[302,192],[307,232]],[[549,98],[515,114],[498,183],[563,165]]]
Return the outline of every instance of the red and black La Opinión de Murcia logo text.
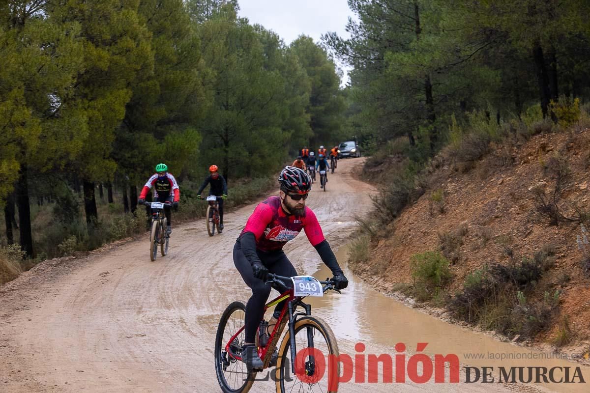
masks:
[[[540,384],[540,383],[585,383],[579,366],[555,366],[551,368],[539,366],[513,366],[502,367],[472,367],[464,368],[464,378],[461,378],[461,366],[459,358],[455,354],[435,354],[430,356],[422,354],[426,349],[427,342],[419,342],[416,346],[416,354],[408,356],[406,345],[398,342],[395,345],[393,356],[390,354],[365,354],[365,344],[358,342],[355,345],[357,352],[353,356],[348,354],[324,355],[317,348],[303,348],[297,352],[295,358],[295,378],[300,379],[304,384],[316,384],[324,377],[327,377],[328,389],[336,391],[340,383],[351,382],[362,384],[404,384],[407,381],[415,384],[434,382],[436,384],[458,384],[464,383],[515,383]],[[313,375],[306,375],[306,361],[313,356],[315,367]],[[433,361],[434,358],[434,361]],[[340,372],[338,372],[340,365]],[[290,370],[287,366],[284,370]],[[381,370],[381,372],[379,372]],[[278,370],[266,374],[266,377],[257,380],[268,381],[272,378],[276,381]],[[497,371],[496,377],[493,376]],[[327,375],[326,375],[327,373]],[[293,377],[284,375],[286,381],[292,381]],[[433,381],[434,379],[434,381]]]

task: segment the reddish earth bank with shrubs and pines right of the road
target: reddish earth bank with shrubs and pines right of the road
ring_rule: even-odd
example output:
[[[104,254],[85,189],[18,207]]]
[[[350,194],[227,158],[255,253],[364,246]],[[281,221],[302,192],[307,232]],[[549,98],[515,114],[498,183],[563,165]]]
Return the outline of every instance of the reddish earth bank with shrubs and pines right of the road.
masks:
[[[590,219],[589,5],[350,7],[350,38],[324,41],[354,69],[349,122],[372,153],[362,177],[379,189],[360,225],[369,240],[353,243],[371,256],[353,250],[352,269],[511,338],[590,335],[576,298],[586,233],[571,247]]]

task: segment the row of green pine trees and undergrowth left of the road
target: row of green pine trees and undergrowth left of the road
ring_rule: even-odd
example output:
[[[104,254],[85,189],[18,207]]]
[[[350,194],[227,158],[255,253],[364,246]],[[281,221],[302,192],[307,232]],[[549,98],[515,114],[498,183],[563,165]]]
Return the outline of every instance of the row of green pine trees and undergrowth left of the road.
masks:
[[[304,145],[338,143],[351,98],[312,38],[284,42],[235,0],[0,5],[0,283],[35,262],[145,229],[137,194],[158,163],[174,222],[217,164],[227,206],[264,193]],[[9,250],[25,253],[15,265]],[[9,262],[8,262],[9,261]]]

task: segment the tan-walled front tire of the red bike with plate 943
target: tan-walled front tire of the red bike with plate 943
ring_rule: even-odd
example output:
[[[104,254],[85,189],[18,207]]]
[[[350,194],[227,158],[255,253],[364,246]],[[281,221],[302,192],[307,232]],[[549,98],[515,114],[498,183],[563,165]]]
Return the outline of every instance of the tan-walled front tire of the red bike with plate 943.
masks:
[[[324,348],[324,346],[318,346],[318,344],[320,344],[320,342],[319,342],[319,340],[316,340],[316,336],[313,335],[314,336],[313,347],[318,349],[324,355],[324,365],[326,366],[326,368],[324,369],[324,372],[323,372],[323,378],[319,381],[309,383],[309,382],[305,382],[304,379],[313,378],[313,374],[308,376],[307,374],[304,375],[302,373],[301,378],[299,376],[293,376],[293,377],[291,377],[292,378],[291,381],[293,381],[294,384],[300,384],[301,387],[303,387],[304,385],[308,385],[306,388],[303,388],[303,391],[305,391],[305,392],[326,392],[327,391],[329,393],[336,393],[338,391],[338,379],[339,379],[339,375],[340,375],[340,362],[330,363],[330,365],[332,366],[332,371],[327,370],[327,366],[329,364],[327,361],[327,359],[329,359],[328,356],[334,355],[334,356],[336,356],[336,358],[339,356],[338,344],[336,342],[334,332],[332,332],[332,329],[330,328],[330,326],[325,321],[323,321],[323,319],[317,318],[316,316],[308,315],[308,316],[304,316],[303,318],[300,318],[295,323],[294,330],[295,330],[296,337],[297,337],[297,333],[299,333],[303,329],[306,329],[306,331],[304,333],[307,336],[307,328],[314,329],[314,331],[319,332],[322,335],[323,340],[325,341],[325,348]],[[304,336],[305,341],[307,341],[306,336]],[[284,378],[285,372],[286,371],[289,373],[291,372],[291,365],[290,365],[291,354],[289,351],[290,346],[291,346],[290,332],[287,329],[286,334],[283,338],[283,342],[281,342],[281,346],[278,349],[278,360],[277,360],[277,368],[276,368],[276,374],[275,374],[277,393],[301,391],[301,387],[299,389],[285,387],[285,384],[286,384],[286,381]],[[307,346],[304,346],[304,347],[297,346],[297,352],[299,354],[301,354],[300,351],[303,348],[308,348],[308,347]],[[324,352],[327,352],[327,353],[324,353]],[[326,374],[327,374],[327,376],[326,376]],[[291,381],[287,381],[287,384],[289,384]],[[296,385],[293,385],[293,387],[294,386],[296,386]],[[314,389],[314,388],[316,388],[316,389]]]

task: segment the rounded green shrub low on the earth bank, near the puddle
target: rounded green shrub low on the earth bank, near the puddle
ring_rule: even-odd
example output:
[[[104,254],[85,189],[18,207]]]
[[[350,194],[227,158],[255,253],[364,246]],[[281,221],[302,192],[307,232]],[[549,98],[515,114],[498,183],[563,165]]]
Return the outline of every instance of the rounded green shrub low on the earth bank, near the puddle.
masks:
[[[440,252],[412,255],[410,268],[419,300],[428,300],[437,295],[453,276],[448,260]]]

